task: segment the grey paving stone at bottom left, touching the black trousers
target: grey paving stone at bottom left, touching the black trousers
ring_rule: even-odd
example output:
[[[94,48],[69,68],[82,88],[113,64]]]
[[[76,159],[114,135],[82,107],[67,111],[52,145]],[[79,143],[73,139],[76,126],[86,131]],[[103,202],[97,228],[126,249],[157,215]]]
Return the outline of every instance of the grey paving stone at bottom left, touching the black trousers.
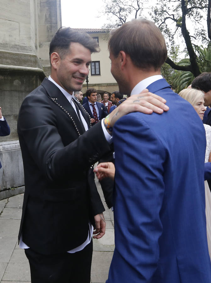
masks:
[[[28,259],[25,256],[24,250],[14,250],[2,280],[30,282],[30,267]]]

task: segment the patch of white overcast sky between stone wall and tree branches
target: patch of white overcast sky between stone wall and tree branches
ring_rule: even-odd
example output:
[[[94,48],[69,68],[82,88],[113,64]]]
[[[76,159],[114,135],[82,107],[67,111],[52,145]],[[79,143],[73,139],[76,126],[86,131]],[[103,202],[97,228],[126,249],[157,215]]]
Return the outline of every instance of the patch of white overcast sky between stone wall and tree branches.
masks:
[[[106,16],[99,15],[102,0],[61,0],[62,25],[72,28],[101,28]]]

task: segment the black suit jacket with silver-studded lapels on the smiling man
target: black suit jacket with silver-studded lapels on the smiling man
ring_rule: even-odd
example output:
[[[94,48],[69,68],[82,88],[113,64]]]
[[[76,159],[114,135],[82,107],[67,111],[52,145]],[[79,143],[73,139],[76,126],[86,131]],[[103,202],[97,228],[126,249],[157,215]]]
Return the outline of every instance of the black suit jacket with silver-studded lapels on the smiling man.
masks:
[[[44,79],[21,105],[18,135],[25,172],[19,237],[22,232],[25,244],[42,254],[78,247],[87,238],[89,220],[104,211],[88,177],[92,164],[110,151],[100,123],[83,133],[66,97]]]

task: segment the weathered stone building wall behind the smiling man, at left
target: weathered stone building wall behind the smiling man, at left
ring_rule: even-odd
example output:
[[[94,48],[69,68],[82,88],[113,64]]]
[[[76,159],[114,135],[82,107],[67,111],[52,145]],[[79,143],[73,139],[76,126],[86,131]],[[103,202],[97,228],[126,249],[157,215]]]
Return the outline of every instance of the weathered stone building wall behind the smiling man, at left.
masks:
[[[18,113],[25,96],[49,75],[49,43],[61,26],[60,0],[0,0],[0,24],[0,106],[11,130],[0,137],[2,199],[24,188]]]

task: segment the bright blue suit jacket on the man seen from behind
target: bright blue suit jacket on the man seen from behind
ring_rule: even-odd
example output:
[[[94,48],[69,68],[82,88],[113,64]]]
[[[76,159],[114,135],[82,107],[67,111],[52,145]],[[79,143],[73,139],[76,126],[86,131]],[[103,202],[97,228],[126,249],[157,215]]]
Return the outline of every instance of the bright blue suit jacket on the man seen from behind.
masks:
[[[108,283],[208,283],[203,123],[158,80],[161,115],[130,113],[114,125],[115,250]]]

